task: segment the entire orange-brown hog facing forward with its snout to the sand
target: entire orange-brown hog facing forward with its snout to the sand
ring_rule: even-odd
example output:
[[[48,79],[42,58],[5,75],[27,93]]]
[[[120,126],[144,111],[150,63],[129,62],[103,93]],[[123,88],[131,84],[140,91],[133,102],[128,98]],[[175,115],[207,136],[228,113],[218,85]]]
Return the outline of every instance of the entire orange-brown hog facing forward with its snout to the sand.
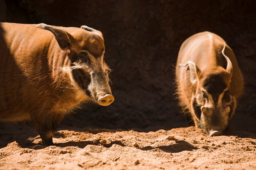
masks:
[[[183,42],[176,65],[177,94],[195,126],[222,135],[243,90],[233,51],[218,35],[195,34]]]

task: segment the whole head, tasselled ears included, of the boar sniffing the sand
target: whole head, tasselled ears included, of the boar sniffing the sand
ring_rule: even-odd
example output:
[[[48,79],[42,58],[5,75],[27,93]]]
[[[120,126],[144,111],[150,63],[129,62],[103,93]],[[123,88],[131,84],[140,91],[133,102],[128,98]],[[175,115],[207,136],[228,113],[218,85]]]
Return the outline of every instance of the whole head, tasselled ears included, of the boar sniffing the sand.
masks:
[[[225,55],[225,44],[222,55],[227,61],[227,67],[216,66],[213,69],[201,71],[198,66],[188,61],[191,86],[196,87],[191,98],[191,114],[197,122],[209,133],[209,136],[222,135],[228,121],[234,114],[236,99],[231,96],[230,83],[233,66]]]

